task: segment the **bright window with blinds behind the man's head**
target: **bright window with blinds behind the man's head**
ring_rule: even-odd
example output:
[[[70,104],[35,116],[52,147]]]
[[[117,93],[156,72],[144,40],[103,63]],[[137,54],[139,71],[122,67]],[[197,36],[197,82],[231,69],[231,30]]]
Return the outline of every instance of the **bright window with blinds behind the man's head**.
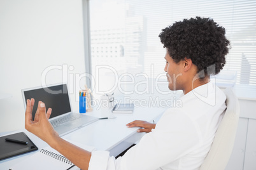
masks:
[[[129,95],[159,95],[155,93],[155,82],[160,82],[157,84],[160,94],[171,93],[163,82],[166,82],[165,51],[158,35],[171,23],[195,16],[213,18],[225,27],[232,49],[227,55],[224,70],[235,72],[236,84],[255,87],[255,9],[256,1],[245,0],[90,1],[92,74],[99,77],[97,92],[110,92],[108,89],[119,86],[121,91],[131,93],[127,93]],[[98,58],[95,57],[98,52],[93,50],[96,48],[104,49],[103,53],[99,51],[101,55]],[[113,76],[117,76],[118,80],[114,80]],[[122,84],[123,81],[129,83]],[[146,83],[138,84],[146,81],[149,81],[148,87]]]

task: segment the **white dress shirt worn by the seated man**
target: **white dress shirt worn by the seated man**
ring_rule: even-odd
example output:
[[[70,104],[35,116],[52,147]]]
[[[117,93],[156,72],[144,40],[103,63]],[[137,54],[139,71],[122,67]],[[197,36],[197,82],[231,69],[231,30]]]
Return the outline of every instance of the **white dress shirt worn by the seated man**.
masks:
[[[222,120],[224,93],[209,82],[182,96],[123,157],[92,152],[89,170],[199,169]]]

